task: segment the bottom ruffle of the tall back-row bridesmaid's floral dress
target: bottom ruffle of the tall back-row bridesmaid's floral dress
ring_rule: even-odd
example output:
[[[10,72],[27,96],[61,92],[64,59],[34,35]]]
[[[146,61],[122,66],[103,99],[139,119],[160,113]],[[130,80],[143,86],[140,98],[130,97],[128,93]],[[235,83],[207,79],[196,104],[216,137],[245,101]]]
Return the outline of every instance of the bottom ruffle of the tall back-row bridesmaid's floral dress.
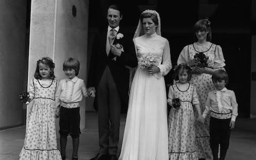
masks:
[[[196,137],[198,158],[213,159],[210,147],[210,137]]]

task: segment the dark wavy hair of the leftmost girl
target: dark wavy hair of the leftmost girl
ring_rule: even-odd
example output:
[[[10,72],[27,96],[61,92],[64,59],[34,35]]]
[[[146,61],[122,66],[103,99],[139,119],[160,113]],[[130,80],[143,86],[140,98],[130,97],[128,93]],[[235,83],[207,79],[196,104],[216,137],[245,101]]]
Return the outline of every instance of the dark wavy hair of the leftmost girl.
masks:
[[[52,59],[49,57],[43,57],[42,59],[38,60],[36,62],[36,71],[34,74],[35,79],[42,79],[42,76],[39,73],[39,63],[42,63],[44,65],[49,66],[49,68],[51,69],[50,71],[50,78],[54,79],[55,75],[54,75],[54,68],[55,68],[55,64],[53,63]]]

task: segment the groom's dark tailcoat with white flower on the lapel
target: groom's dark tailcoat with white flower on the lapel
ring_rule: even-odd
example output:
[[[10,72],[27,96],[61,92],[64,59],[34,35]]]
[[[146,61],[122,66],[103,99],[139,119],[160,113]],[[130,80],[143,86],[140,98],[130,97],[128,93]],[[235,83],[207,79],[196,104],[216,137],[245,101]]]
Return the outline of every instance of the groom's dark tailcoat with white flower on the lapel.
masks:
[[[121,44],[124,52],[122,52],[120,57],[116,58],[116,61],[113,60],[115,55],[111,53],[111,51],[109,52],[109,55],[106,53],[107,32],[108,30],[106,27],[106,29],[101,30],[94,38],[87,84],[88,87],[97,88],[102,73],[108,65],[115,81],[119,97],[122,101],[121,112],[124,113],[127,111],[129,100],[128,91],[130,76],[129,69],[127,69],[125,65],[132,68],[137,66],[137,56],[132,39],[127,39],[125,33],[122,32],[122,27],[119,27],[117,34],[122,33],[124,37],[121,39],[115,38],[113,44]],[[97,108],[95,109],[97,110]]]

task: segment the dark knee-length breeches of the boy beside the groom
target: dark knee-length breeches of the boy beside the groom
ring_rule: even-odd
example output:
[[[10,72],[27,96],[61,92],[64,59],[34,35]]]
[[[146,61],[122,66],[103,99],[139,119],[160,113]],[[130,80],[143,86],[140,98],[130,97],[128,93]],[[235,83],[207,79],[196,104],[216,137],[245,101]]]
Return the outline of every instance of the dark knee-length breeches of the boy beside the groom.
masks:
[[[80,108],[60,107],[60,136],[68,136],[78,138],[80,131]]]

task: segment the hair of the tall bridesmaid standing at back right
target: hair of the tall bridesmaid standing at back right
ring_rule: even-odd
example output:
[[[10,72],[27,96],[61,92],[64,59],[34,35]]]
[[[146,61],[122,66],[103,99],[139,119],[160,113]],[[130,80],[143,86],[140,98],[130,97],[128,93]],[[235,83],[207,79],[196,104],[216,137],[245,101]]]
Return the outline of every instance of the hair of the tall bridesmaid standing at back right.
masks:
[[[212,30],[211,30],[210,24],[211,24],[211,22],[207,18],[198,20],[194,25],[194,32],[197,32],[199,30],[209,31],[207,34],[206,40],[211,41],[212,40]]]

